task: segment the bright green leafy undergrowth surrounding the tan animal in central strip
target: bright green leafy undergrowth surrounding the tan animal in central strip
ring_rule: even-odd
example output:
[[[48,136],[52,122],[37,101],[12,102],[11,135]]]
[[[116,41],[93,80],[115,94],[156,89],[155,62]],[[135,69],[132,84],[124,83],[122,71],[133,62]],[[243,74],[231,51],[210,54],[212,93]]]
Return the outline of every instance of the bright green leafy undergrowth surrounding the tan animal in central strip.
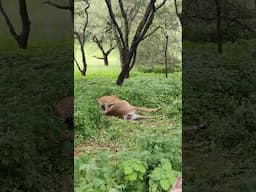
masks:
[[[153,119],[102,116],[96,99],[115,94],[132,105],[162,107]],[[181,174],[181,73],[75,81],[75,191],[168,191]]]

